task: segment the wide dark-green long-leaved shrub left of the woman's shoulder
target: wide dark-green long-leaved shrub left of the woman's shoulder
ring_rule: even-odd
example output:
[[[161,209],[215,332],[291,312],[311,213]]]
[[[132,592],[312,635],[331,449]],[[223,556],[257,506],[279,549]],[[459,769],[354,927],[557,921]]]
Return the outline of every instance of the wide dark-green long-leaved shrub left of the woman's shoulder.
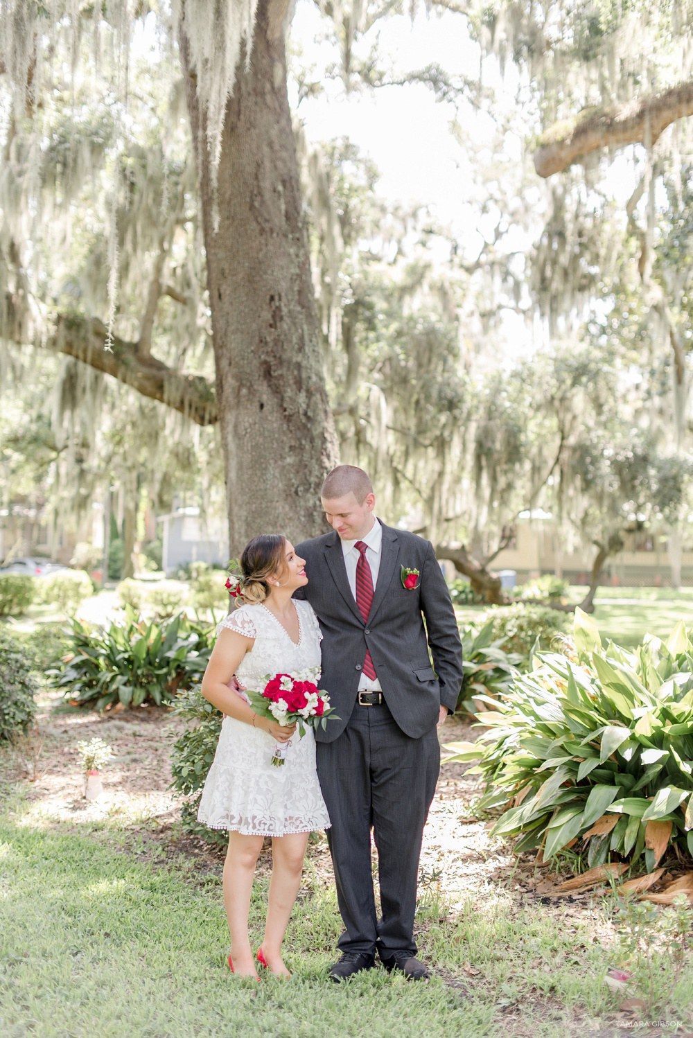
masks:
[[[161,706],[200,678],[213,629],[185,616],[147,624],[126,606],[124,621],[107,630],[74,621],[70,640],[62,665],[50,675],[66,699],[96,710],[118,702]]]

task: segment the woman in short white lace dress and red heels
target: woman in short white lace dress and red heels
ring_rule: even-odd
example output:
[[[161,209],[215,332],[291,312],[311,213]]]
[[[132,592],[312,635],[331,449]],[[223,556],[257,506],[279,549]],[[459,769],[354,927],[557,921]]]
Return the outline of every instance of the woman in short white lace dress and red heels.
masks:
[[[303,738],[254,713],[228,683],[261,690],[268,675],[296,674],[321,665],[322,633],[307,602],[295,601],[308,582],[304,559],[286,538],[264,534],[241,557],[237,602],[244,604],[220,625],[201,691],[223,714],[221,735],[197,817],[228,829],[224,907],[231,937],[231,973],[257,980],[255,962],[288,977],[281,941],[298,894],[308,834],[330,824],[315,772],[312,729]],[[287,743],[283,767],[270,763],[275,743]],[[253,959],[248,911],[257,856],[272,837],[272,879],[265,936]]]

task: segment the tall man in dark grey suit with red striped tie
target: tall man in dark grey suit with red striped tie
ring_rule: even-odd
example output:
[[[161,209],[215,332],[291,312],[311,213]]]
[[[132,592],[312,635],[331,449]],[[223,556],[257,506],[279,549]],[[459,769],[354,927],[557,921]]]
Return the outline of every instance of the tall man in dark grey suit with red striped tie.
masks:
[[[386,969],[419,979],[427,976],[413,934],[419,855],[440,768],[436,726],[462,684],[458,625],[432,545],[376,518],[363,469],[339,465],[321,497],[333,531],[296,552],[309,578],[297,597],[310,602],[323,631],[321,685],[341,718],[315,731],[344,924],[330,977],[372,968],[378,951]]]

